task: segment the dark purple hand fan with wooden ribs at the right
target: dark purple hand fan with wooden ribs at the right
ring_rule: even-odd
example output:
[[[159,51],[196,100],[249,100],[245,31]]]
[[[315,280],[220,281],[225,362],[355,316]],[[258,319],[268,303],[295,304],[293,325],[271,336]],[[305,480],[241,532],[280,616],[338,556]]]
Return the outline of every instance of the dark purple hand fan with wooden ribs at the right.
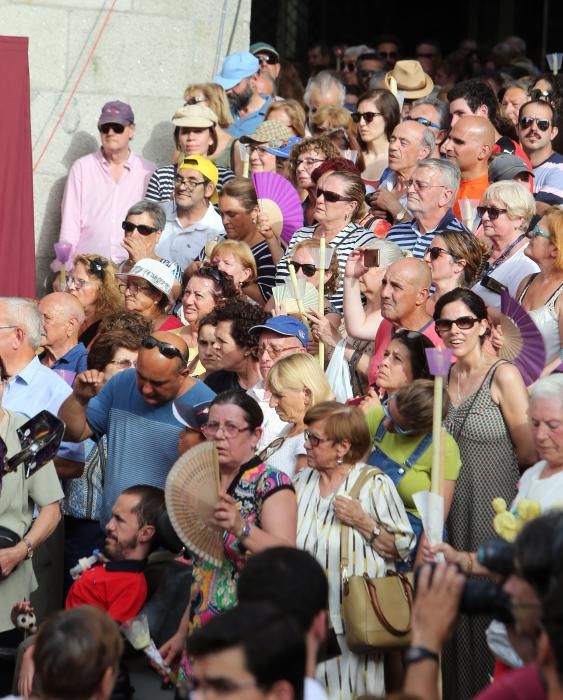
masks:
[[[522,375],[526,386],[533,384],[545,367],[545,345],[542,334],[528,312],[508,292],[502,292],[500,310],[504,343],[499,352],[510,360]]]

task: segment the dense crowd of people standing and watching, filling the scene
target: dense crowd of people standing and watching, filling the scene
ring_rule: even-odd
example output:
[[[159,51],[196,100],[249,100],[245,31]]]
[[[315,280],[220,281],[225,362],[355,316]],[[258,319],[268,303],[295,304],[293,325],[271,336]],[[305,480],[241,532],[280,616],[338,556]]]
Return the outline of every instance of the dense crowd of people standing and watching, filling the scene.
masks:
[[[0,299],[2,459],[40,411],[65,424],[40,470],[0,464],[4,694],[132,697],[116,623],[168,548],[168,633],[149,618],[177,697],[563,697],[563,82],[518,37],[291,68],[265,42],[226,56],[179,96],[160,167],[132,106],[103,105],[66,274]],[[302,226],[282,233],[259,173]],[[205,442],[220,565],[179,553],[165,505]],[[417,494],[440,464],[436,541]],[[413,572],[410,646],[359,647],[349,578]]]

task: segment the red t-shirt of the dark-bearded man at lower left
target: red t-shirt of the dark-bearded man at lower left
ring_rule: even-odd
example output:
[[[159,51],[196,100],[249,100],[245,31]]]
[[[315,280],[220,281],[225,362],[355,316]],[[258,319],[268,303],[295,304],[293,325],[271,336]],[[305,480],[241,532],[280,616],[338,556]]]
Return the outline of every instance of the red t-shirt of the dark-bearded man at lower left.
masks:
[[[147,598],[145,562],[109,561],[87,569],[70,587],[65,608],[95,605],[116,622],[139,614]]]

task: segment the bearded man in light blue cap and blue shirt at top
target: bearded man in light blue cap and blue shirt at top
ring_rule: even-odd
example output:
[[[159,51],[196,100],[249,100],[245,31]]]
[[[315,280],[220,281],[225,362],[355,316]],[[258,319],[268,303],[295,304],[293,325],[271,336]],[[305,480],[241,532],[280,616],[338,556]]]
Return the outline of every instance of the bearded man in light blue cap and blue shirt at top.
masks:
[[[225,57],[223,68],[213,82],[224,88],[229,99],[234,124],[227,131],[239,139],[260,126],[266,117],[271,97],[260,95],[256,80],[260,61],[248,51],[238,51]]]

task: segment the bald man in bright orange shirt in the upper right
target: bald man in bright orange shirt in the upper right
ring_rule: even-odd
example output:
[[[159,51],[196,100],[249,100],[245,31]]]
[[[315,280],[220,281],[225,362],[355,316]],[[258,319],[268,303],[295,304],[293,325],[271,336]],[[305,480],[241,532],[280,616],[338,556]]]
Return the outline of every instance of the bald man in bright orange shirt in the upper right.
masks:
[[[461,184],[453,212],[460,217],[459,200],[481,202],[489,186],[489,159],[495,145],[495,129],[485,117],[464,116],[456,121],[444,148],[446,157],[461,170]]]

